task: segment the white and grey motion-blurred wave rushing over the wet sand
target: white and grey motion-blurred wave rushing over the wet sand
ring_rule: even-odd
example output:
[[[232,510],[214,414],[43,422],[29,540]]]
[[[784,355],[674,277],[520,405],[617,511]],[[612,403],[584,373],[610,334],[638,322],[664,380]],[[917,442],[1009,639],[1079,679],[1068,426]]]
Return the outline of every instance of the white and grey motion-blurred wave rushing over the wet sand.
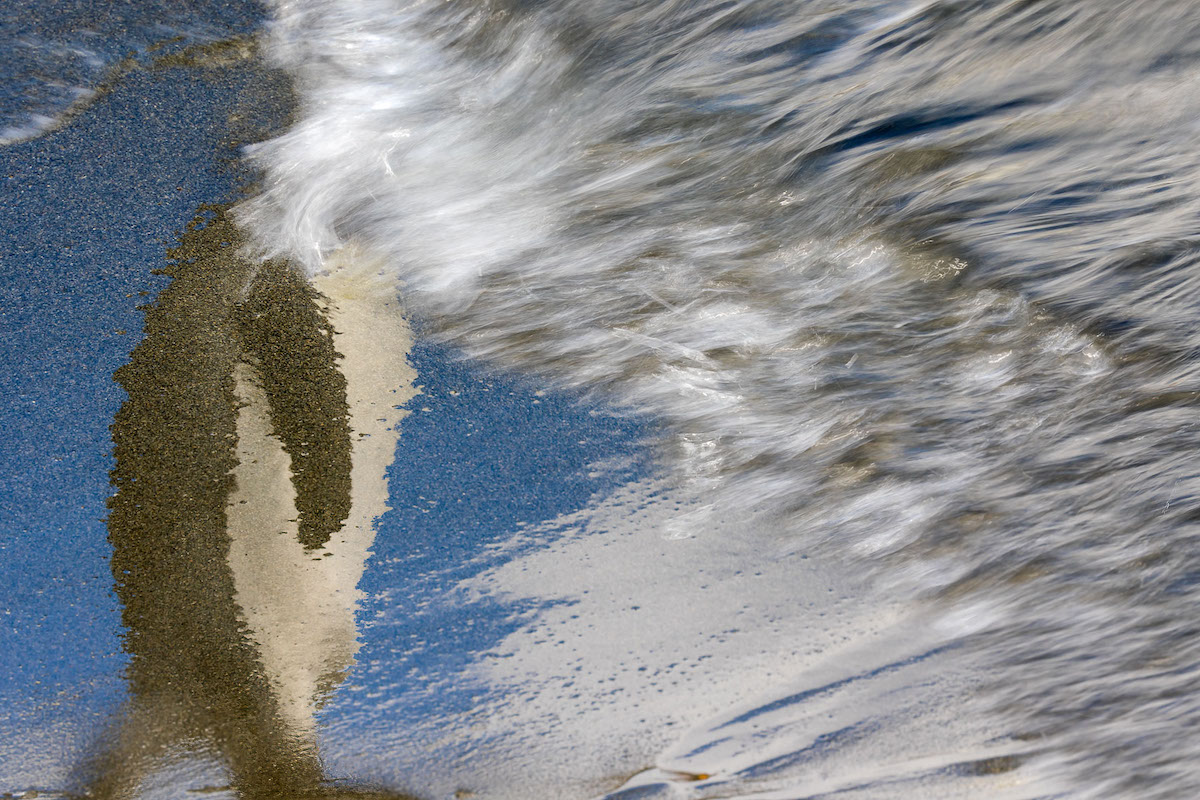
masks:
[[[301,112],[240,218],[941,609],[1064,794],[1195,796],[1196,42],[1184,0],[278,2]]]

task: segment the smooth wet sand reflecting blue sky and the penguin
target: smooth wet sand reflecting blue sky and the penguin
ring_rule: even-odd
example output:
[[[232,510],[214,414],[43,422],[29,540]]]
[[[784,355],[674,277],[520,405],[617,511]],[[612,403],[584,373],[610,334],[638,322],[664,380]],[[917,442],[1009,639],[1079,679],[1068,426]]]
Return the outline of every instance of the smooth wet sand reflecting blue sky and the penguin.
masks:
[[[892,633],[914,624],[871,607],[834,565],[770,549],[748,521],[679,535],[694,510],[654,480],[644,422],[446,350],[419,345],[414,374],[396,287],[365,254],[312,285],[238,258],[227,210],[248,175],[236,148],[287,116],[286,85],[254,58],[233,40],[131,67],[8,156],[34,164],[22,180],[46,205],[70,192],[96,211],[52,227],[78,240],[113,223],[128,239],[71,254],[65,302],[25,303],[31,319],[61,320],[29,335],[35,353],[42,336],[55,339],[42,350],[77,342],[82,355],[11,365],[44,391],[35,399],[59,398],[49,416],[10,411],[18,447],[86,455],[66,480],[8,457],[32,464],[24,533],[61,533],[42,540],[48,557],[8,559],[5,577],[34,576],[12,585],[35,622],[13,628],[24,697],[0,722],[0,792],[775,796],[803,781],[845,789],[870,772],[863,760],[900,782],[1000,765],[996,781],[985,766],[964,781],[986,796],[1013,786],[1009,740],[967,723],[966,744],[950,746],[943,717],[914,711],[968,685],[904,693],[942,674],[936,632]],[[209,116],[181,115],[202,107]],[[175,137],[164,154],[190,155],[168,169],[139,137]],[[58,172],[38,166],[56,149]],[[92,173],[79,167],[106,149]],[[188,185],[190,173],[204,180]],[[151,282],[155,269],[169,282]],[[89,314],[103,321],[89,327]],[[64,387],[72,369],[91,383]],[[61,399],[72,392],[103,402]],[[86,524],[55,511],[62,495],[83,498]],[[38,594],[59,576],[83,594]],[[778,752],[757,742],[763,720]],[[806,750],[854,726],[893,724],[894,740],[913,722],[924,733],[895,753]],[[920,764],[914,747],[936,754]],[[772,760],[796,751],[809,760]]]

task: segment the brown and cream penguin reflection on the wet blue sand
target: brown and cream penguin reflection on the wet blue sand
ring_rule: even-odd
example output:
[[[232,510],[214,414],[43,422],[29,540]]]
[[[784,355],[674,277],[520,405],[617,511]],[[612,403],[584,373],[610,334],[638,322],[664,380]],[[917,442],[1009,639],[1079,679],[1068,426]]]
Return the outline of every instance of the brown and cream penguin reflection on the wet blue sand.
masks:
[[[353,259],[313,288],[238,246],[205,209],[116,374],[108,525],[130,699],[80,782],[134,798],[191,748],[250,800],[398,799],[325,780],[314,712],[358,646],[408,330],[395,287]]]

